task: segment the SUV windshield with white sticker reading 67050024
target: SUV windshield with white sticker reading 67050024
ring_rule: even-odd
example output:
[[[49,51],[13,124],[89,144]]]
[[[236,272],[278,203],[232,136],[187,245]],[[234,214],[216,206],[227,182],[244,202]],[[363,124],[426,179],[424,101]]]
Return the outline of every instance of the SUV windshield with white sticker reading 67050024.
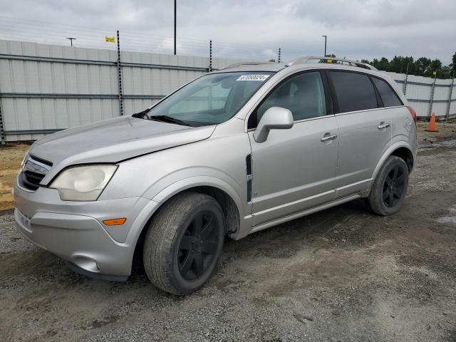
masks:
[[[232,118],[271,76],[266,72],[214,73],[177,90],[143,118],[178,125],[217,125]]]

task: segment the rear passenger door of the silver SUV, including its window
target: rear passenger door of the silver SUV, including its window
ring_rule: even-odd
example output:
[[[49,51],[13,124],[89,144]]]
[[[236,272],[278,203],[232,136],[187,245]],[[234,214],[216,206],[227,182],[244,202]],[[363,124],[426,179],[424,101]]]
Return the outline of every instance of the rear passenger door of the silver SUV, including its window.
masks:
[[[336,197],[341,198],[371,185],[375,166],[391,143],[392,115],[368,74],[327,73],[340,133]]]

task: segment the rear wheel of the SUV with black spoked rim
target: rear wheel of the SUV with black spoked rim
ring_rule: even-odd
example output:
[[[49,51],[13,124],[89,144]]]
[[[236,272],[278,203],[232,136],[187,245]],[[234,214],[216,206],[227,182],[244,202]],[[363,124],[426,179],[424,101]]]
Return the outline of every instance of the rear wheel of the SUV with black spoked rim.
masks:
[[[405,161],[390,155],[380,168],[367,198],[368,207],[381,216],[395,214],[405,201],[408,167]]]

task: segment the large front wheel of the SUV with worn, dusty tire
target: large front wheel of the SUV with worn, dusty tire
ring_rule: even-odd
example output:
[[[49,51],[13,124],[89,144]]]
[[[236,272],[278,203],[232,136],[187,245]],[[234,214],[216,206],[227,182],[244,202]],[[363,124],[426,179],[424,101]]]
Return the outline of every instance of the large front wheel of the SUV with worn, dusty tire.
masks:
[[[197,192],[172,197],[147,229],[142,258],[149,280],[170,294],[192,294],[212,276],[224,243],[223,212]]]

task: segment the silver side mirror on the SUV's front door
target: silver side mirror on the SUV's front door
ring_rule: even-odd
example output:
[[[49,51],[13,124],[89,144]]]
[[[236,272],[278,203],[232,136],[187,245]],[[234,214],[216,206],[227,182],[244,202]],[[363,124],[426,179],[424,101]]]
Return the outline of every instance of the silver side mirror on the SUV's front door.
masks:
[[[256,142],[264,142],[269,130],[286,130],[293,127],[293,114],[286,108],[271,107],[264,112],[254,132]]]

